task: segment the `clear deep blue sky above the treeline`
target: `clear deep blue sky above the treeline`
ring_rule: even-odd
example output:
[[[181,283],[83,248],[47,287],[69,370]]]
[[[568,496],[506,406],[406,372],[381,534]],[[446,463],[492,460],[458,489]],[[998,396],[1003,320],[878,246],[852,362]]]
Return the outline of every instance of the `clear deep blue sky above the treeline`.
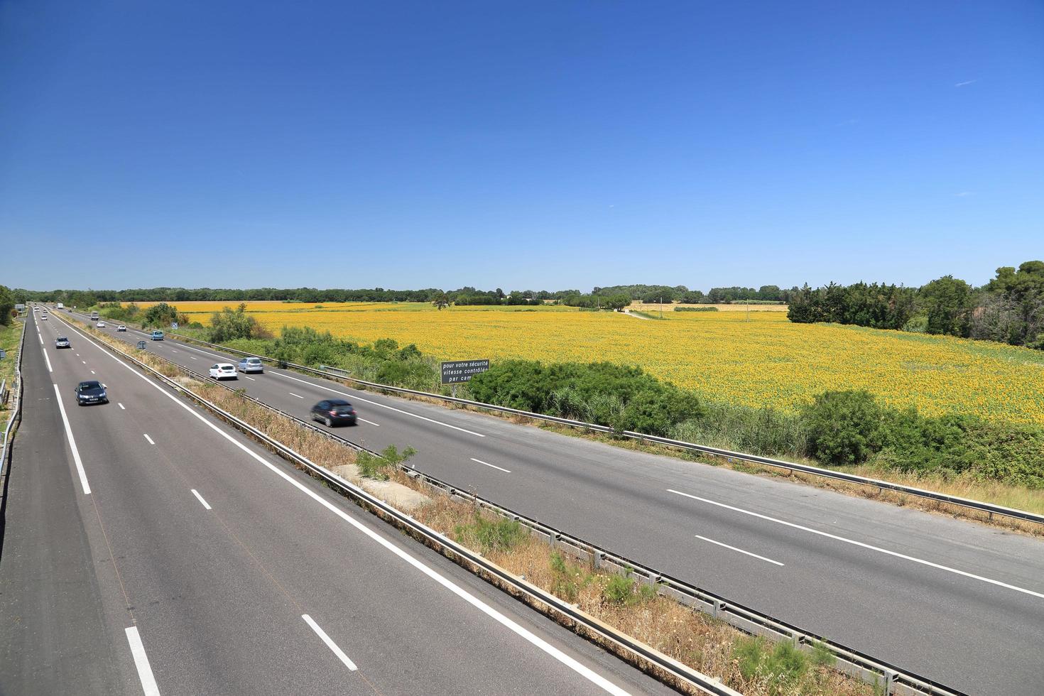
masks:
[[[0,283],[979,284],[1042,134],[1039,0],[5,0]]]

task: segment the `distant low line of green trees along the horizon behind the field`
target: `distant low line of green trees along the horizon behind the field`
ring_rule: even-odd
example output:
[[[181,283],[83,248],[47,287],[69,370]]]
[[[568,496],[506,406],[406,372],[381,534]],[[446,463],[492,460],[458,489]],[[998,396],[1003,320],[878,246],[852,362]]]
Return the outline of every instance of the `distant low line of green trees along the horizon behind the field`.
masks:
[[[14,293],[17,302],[61,302],[70,307],[93,307],[99,303],[128,302],[435,302],[445,296],[453,305],[531,305],[545,302],[561,302],[573,306],[604,306],[604,298],[626,296],[627,301],[683,302],[683,303],[733,303],[733,302],[787,302],[798,288],[783,290],[775,285],[763,285],[759,289],[731,287],[711,288],[708,292],[689,290],[684,285],[614,285],[596,287],[590,293],[579,290],[478,290],[471,286],[456,290],[425,288],[423,290],[386,290],[384,288],[347,290],[316,288],[253,288],[246,290],[222,288],[136,288],[128,290],[24,290]],[[590,298],[590,299],[589,299]],[[589,305],[587,304],[589,303]]]

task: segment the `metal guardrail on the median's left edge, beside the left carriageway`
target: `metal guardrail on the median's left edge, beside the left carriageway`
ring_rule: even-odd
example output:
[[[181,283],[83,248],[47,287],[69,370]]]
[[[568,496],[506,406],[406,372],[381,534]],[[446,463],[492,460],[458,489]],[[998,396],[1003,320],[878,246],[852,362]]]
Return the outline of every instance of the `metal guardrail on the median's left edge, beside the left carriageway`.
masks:
[[[302,466],[303,469],[308,471],[311,475],[324,479],[326,482],[332,484],[337,489],[346,494],[348,497],[362,504],[364,507],[371,508],[372,510],[376,511],[379,517],[382,517],[383,519],[390,521],[400,529],[407,531],[413,537],[421,539],[426,545],[438,550],[441,553],[448,554],[451,557],[456,557],[457,559],[460,559],[466,563],[479,569],[480,571],[479,575],[484,574],[489,577],[495,578],[496,583],[500,584],[501,586],[509,587],[508,591],[509,594],[525,597],[525,601],[527,604],[532,605],[533,603],[536,603],[538,606],[547,607],[549,611],[556,614],[560,617],[565,617],[568,621],[573,623],[573,630],[578,634],[585,635],[584,631],[588,631],[596,635],[598,641],[603,643],[609,643],[610,645],[614,646],[615,647],[614,651],[617,654],[620,654],[619,653],[620,650],[624,651],[624,655],[621,656],[624,656],[624,658],[628,659],[628,662],[635,662],[635,659],[637,658],[639,664],[644,663],[643,667],[646,668],[650,667],[654,671],[659,670],[668,675],[669,677],[668,681],[674,680],[679,685],[683,685],[689,688],[690,690],[698,690],[701,693],[711,694],[712,696],[741,696],[738,692],[720,683],[718,679],[709,677],[706,674],[703,674],[702,672],[693,670],[687,665],[679,663],[678,661],[661,653],[660,651],[645,645],[644,643],[635,640],[634,638],[627,635],[626,633],[618,631],[612,626],[601,623],[594,617],[579,610],[574,605],[555,597],[554,595],[544,592],[542,589],[538,587],[537,585],[530,584],[529,582],[526,582],[522,578],[513,575],[512,573],[500,568],[496,563],[493,563],[492,561],[483,558],[480,554],[471,551],[467,547],[464,547],[454,542],[453,539],[444,536],[443,534],[431,529],[427,525],[418,522],[409,514],[398,510],[392,505],[388,505],[384,501],[380,500],[376,496],[373,496],[363,488],[360,488],[351,481],[348,481],[341,478],[340,476],[337,476],[333,472],[312,462],[304,455],[286,447],[279,440],[270,437],[262,430],[255,428],[245,421],[242,421],[233,415],[232,413],[229,413],[224,409],[220,408],[219,406],[212,404],[201,395],[195,393],[194,391],[185,387],[184,385],[179,384],[177,382],[168,378],[163,373],[160,373],[159,370],[145,364],[141,360],[138,360],[134,356],[124,353],[123,351],[120,351],[119,349],[111,345],[105,341],[101,341],[101,345],[110,350],[112,353],[122,356],[123,358],[132,361],[137,367],[147,371],[153,378],[160,380],[162,383],[175,389],[180,393],[186,394],[193,401],[197,402],[200,406],[207,408],[211,412],[218,415],[227,423],[235,426],[240,431],[247,433],[252,437],[260,440],[266,447],[270,448],[272,451],[278,453],[284,459],[287,459]],[[199,378],[207,382],[211,381],[209,377],[204,377],[199,373],[194,373],[193,370],[184,368],[181,365],[176,365],[176,363],[166,360],[161,356],[156,356],[155,354],[152,355],[153,357],[158,357],[162,360],[165,360],[171,365],[175,365],[180,370],[186,374],[190,374],[194,378]],[[245,397],[245,394],[242,395]],[[259,404],[261,403],[254,399],[251,399],[251,401]],[[269,410],[282,413],[282,411],[279,411],[278,409],[275,409],[270,406],[267,405],[264,406]],[[311,424],[307,424],[304,421],[301,421],[301,418],[289,416],[289,414],[284,414],[284,415],[288,415],[288,417],[301,424],[314,428],[314,426],[311,426]],[[318,430],[317,428],[314,429]],[[332,434],[330,435],[335,439],[342,439],[342,438],[337,438]],[[358,445],[355,445],[354,442],[352,443],[352,446],[357,450],[365,449],[361,448]],[[584,631],[576,630],[577,626],[583,627]]]

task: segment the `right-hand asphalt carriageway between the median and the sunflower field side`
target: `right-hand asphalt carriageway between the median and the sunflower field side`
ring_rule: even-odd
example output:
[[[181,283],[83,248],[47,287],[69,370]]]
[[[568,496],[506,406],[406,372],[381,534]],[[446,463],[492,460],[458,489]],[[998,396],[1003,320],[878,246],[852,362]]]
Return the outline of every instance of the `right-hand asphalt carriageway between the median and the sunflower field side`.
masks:
[[[147,349],[203,374],[238,360]],[[236,386],[303,418],[342,397],[360,416],[345,437],[412,446],[419,471],[951,688],[1044,693],[1035,538],[267,366]]]

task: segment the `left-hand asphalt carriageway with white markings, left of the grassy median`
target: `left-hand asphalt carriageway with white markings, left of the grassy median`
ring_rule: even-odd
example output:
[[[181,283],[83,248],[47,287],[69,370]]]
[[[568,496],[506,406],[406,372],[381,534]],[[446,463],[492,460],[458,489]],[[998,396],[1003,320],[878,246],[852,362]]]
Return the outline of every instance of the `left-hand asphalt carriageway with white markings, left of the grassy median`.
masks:
[[[0,693],[669,693],[53,316],[27,331]],[[76,405],[91,379],[109,404]]]

